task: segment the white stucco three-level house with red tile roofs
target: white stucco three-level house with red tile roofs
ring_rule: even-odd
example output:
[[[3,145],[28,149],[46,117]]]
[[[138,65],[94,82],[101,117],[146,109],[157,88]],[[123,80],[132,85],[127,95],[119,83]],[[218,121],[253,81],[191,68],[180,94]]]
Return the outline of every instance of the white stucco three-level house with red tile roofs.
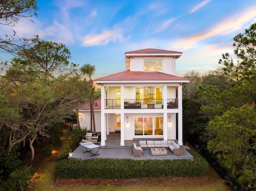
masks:
[[[190,79],[176,76],[181,55],[152,48],[126,52],[126,71],[94,80],[101,86],[94,110],[102,146],[109,132],[120,134],[120,146],[124,140],[148,138],[176,139],[183,145],[182,85]],[[90,129],[90,105],[79,108],[79,117],[80,125]]]

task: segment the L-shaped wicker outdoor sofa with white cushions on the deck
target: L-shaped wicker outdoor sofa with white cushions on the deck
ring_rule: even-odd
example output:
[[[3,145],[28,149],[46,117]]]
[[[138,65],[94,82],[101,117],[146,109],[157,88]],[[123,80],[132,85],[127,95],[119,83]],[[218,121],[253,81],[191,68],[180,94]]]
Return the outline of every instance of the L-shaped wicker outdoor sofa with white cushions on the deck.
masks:
[[[142,150],[147,150],[150,148],[169,148],[174,156],[182,155],[182,148],[174,140],[145,140],[139,141],[140,147]]]

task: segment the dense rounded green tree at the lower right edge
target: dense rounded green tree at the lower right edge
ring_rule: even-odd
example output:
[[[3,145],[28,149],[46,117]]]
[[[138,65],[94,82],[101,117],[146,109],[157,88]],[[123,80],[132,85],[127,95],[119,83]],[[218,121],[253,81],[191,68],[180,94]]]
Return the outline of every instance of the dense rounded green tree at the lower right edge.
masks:
[[[209,123],[214,137],[208,149],[217,154],[220,164],[239,177],[240,183],[255,185],[256,177],[256,112],[252,106],[231,108]],[[249,176],[248,176],[249,175]]]

